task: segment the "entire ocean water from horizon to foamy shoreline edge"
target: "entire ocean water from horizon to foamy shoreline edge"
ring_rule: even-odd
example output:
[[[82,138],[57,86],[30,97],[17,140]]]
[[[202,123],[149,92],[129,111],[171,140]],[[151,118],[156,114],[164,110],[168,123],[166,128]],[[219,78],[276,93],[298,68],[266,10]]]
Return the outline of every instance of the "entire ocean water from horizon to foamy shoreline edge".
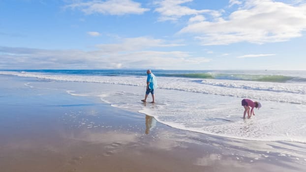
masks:
[[[94,83],[64,88],[73,96],[95,96],[116,108],[139,112],[174,128],[221,137],[306,143],[306,71],[153,70],[155,104],[142,103],[146,70],[2,70],[0,75],[37,78],[25,83],[48,88],[54,82]],[[241,100],[262,104],[243,119]],[[151,95],[148,101],[151,100]]]

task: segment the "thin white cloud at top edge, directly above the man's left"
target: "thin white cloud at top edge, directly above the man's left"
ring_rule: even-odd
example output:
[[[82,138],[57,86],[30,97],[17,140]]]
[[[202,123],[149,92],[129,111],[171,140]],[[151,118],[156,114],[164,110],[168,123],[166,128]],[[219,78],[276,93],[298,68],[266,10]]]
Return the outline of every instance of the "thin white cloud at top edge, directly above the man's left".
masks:
[[[65,6],[65,8],[79,8],[85,14],[101,13],[110,15],[143,14],[150,10],[142,8],[141,3],[133,0],[92,0],[72,3]]]

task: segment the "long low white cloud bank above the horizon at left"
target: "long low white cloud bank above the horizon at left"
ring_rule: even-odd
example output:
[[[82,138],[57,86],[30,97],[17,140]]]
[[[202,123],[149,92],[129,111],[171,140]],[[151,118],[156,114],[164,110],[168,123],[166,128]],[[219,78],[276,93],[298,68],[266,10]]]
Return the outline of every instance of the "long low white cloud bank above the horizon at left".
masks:
[[[149,37],[126,38],[118,44],[100,44],[95,51],[44,50],[0,47],[2,69],[108,69],[108,68],[200,68],[211,61],[190,52],[156,51],[182,46]]]

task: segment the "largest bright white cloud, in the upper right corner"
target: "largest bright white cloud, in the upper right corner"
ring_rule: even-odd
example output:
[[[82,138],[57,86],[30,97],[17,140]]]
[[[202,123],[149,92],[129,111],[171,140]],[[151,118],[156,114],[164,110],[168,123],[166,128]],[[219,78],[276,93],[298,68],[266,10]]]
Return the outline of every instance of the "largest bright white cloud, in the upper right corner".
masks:
[[[287,41],[302,36],[305,30],[305,3],[292,5],[272,0],[245,0],[239,10],[228,17],[189,23],[179,33],[195,34],[203,45],[227,45]]]

